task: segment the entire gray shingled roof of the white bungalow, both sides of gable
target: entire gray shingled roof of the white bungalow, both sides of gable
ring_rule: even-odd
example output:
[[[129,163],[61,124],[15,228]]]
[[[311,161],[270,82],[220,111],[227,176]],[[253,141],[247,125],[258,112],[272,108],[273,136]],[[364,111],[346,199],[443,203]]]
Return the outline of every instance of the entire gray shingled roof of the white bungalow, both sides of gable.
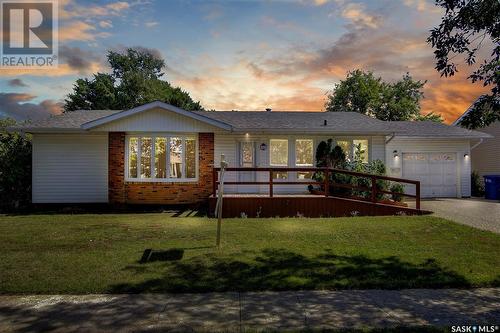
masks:
[[[20,127],[26,131],[84,131],[82,125],[121,112],[120,110],[79,110],[52,116]],[[293,111],[194,111],[230,125],[234,131],[271,133],[327,132],[392,134],[418,137],[484,138],[488,134],[430,121],[392,121],[373,119],[356,112]],[[325,126],[326,120],[326,126]]]

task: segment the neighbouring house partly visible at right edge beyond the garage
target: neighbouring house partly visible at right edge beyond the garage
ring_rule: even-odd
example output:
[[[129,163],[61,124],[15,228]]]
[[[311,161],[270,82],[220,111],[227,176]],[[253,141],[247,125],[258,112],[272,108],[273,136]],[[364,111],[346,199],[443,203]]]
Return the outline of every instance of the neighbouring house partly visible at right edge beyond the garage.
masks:
[[[452,125],[460,126],[460,121],[470,110],[467,109]],[[481,139],[480,144],[471,147],[471,168],[482,180],[484,175],[500,175],[500,121],[481,128],[481,132],[489,134],[490,138]]]

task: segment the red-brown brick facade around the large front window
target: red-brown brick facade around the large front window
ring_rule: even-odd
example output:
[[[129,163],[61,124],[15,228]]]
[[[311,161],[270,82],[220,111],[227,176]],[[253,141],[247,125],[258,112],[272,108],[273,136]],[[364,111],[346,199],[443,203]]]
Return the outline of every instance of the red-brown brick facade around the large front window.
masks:
[[[212,193],[214,134],[198,135],[197,182],[126,182],[125,133],[109,133],[109,202],[116,204],[193,204]]]

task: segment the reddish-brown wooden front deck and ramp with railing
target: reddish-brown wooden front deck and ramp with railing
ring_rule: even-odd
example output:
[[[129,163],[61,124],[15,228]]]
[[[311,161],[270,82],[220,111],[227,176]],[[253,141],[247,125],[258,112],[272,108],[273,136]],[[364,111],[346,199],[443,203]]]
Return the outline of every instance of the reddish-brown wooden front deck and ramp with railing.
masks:
[[[430,213],[420,209],[420,182],[408,179],[371,175],[331,168],[226,168],[225,172],[266,172],[269,181],[219,181],[220,168],[214,168],[213,194],[209,198],[210,212],[216,209],[220,185],[267,187],[266,193],[223,194],[223,217],[339,217],[339,216],[381,216],[381,215],[422,215]],[[275,173],[321,172],[323,182],[310,180],[277,181]],[[367,178],[371,186],[342,184],[332,181],[335,174],[343,174],[356,179]],[[377,181],[384,180],[414,186],[415,194],[391,192],[379,189]],[[275,187],[284,185],[313,185],[312,193],[275,194]],[[341,189],[339,194],[338,189]],[[415,199],[415,208],[407,207],[392,200],[382,200],[381,196],[399,195]]]

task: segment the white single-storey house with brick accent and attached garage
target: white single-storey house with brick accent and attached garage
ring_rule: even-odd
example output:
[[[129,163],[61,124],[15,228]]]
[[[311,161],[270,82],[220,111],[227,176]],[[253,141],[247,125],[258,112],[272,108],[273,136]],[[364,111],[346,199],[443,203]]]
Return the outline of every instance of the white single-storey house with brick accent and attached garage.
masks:
[[[421,181],[423,197],[470,196],[471,146],[488,135],[433,122],[384,122],[350,112],[195,111],[152,102],[82,110],[22,128],[33,134],[33,203],[182,204],[207,200],[213,167],[314,166],[319,142],[382,160],[388,174]],[[258,181],[262,172],[227,173]],[[308,172],[276,172],[276,193],[301,193]],[[268,180],[265,179],[266,181]],[[228,193],[263,193],[228,185]]]

